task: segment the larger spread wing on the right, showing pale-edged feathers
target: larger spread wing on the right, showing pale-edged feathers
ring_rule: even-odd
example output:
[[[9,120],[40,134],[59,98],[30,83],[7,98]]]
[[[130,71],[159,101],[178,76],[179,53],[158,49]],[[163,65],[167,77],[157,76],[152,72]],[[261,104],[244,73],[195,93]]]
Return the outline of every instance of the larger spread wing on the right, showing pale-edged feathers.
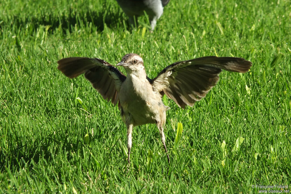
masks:
[[[153,90],[166,94],[179,107],[193,106],[216,85],[222,69],[245,73],[250,61],[236,57],[201,57],[173,63],[164,68],[153,80]]]

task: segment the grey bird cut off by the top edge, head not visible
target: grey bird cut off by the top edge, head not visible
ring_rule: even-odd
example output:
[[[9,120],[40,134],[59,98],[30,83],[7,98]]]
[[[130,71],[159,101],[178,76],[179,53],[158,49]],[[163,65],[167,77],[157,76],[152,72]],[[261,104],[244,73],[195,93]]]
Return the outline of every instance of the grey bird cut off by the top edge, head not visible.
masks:
[[[151,29],[154,30],[157,20],[161,17],[164,7],[170,0],[116,0],[124,13],[129,17],[129,22],[134,25],[134,16],[139,17],[145,13],[150,20]],[[137,23],[137,21],[136,21]]]

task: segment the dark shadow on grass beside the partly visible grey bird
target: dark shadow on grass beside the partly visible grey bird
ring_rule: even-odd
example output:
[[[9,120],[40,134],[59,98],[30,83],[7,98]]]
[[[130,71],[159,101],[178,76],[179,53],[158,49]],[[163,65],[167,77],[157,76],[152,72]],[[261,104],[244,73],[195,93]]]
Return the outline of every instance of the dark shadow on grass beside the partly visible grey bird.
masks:
[[[18,33],[20,29],[26,29],[26,32],[33,35],[40,26],[49,26],[50,33],[54,33],[60,29],[60,31],[66,35],[67,33],[75,31],[75,26],[82,29],[93,25],[97,28],[97,31],[102,32],[105,25],[108,28],[120,27],[120,18],[123,19],[121,14],[122,13],[119,11],[112,13],[105,8],[99,12],[94,10],[76,12],[76,10],[70,8],[68,13],[61,13],[60,15],[48,13],[39,17],[32,15],[25,15],[25,17],[22,17],[18,14],[13,15],[11,18],[7,19],[6,22],[2,22],[0,28],[10,26],[15,33]],[[127,25],[126,27],[129,27],[127,22],[125,23]]]

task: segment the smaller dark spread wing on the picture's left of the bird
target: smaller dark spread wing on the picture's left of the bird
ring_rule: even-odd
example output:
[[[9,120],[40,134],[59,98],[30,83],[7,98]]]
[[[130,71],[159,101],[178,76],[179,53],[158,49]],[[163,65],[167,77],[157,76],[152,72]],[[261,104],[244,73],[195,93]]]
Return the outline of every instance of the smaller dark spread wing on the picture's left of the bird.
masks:
[[[58,70],[74,78],[82,73],[107,101],[118,102],[118,92],[126,79],[117,68],[98,58],[70,57],[58,61]]]

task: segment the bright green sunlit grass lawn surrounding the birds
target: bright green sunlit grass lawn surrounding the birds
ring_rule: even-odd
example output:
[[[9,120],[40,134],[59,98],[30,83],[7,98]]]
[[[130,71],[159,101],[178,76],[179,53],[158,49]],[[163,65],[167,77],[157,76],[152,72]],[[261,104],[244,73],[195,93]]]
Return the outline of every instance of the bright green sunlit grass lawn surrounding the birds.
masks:
[[[147,17],[132,29],[113,0],[1,1],[0,193],[290,187],[290,14],[288,0],[171,0],[151,32]],[[148,124],[134,128],[127,170],[118,108],[83,76],[65,77],[56,62],[84,56],[116,64],[130,52],[143,57],[149,77],[173,62],[210,55],[243,57],[253,66],[244,74],[222,72],[194,107],[182,110],[166,98],[171,164]],[[178,122],[183,132],[175,144]]]

